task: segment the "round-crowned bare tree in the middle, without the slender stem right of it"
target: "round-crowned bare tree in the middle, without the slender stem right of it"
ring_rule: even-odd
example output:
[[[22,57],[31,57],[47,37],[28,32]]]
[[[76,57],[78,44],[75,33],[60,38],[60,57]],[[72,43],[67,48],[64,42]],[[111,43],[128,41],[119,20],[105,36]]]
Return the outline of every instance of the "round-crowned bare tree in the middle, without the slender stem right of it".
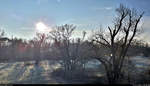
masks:
[[[55,30],[50,32],[50,37],[54,40],[55,46],[60,51],[60,57],[63,60],[65,70],[70,69],[70,38],[76,27],[73,25],[62,25],[57,26]]]

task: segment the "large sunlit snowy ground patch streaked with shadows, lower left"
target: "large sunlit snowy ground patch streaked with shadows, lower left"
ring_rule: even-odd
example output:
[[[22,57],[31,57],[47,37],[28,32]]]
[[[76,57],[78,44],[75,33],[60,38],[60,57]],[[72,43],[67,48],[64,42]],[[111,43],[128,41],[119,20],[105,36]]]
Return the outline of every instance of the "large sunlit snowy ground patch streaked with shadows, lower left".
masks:
[[[60,77],[57,80],[50,78],[51,72],[59,66],[59,64],[49,65],[48,61],[42,61],[39,66],[33,64],[25,66],[24,62],[1,63],[0,83],[65,83]]]

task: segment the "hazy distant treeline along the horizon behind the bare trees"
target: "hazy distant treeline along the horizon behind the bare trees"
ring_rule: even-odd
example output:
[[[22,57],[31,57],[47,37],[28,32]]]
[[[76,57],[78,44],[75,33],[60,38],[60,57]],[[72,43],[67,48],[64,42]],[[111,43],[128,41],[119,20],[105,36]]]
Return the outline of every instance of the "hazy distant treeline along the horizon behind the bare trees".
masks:
[[[82,38],[76,38],[76,40],[73,39],[73,41],[70,42],[70,46],[72,48],[76,46],[75,48],[77,48],[77,46],[79,46],[78,42],[80,42],[81,39]],[[91,46],[90,40],[84,40],[82,41],[82,44],[84,45],[80,45],[80,47],[82,47],[80,48],[81,50],[85,50]],[[52,39],[48,36],[46,37],[46,34],[44,33],[37,33],[37,36],[33,40],[28,41],[21,38],[10,39],[7,37],[1,37],[0,62],[28,61],[36,59],[57,60],[59,58],[59,56],[57,56],[58,54],[56,54],[58,52],[58,50],[56,50],[58,46],[61,46],[61,44],[57,40],[52,42]],[[89,52],[91,53],[92,51],[86,50],[86,53]],[[150,55],[150,47],[148,46],[148,43],[145,43],[142,40],[134,40],[127,54],[129,56],[136,56],[139,54],[148,57]],[[87,57],[90,58],[90,55]]]

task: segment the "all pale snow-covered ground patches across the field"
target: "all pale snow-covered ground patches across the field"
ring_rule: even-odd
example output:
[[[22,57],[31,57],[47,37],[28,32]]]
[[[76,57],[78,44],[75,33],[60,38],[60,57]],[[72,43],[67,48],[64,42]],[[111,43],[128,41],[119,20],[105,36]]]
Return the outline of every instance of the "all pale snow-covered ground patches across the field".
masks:
[[[149,67],[150,59],[136,56],[131,58],[132,62],[136,64],[136,67]],[[31,64],[29,64],[31,63]],[[64,79],[51,77],[53,70],[60,67],[60,64],[51,64],[50,61],[41,61],[40,65],[34,65],[34,62],[15,62],[15,63],[0,63],[0,84],[8,83],[22,83],[22,84],[60,84],[67,83]],[[100,63],[98,61],[90,61],[86,65],[86,68],[98,68]]]

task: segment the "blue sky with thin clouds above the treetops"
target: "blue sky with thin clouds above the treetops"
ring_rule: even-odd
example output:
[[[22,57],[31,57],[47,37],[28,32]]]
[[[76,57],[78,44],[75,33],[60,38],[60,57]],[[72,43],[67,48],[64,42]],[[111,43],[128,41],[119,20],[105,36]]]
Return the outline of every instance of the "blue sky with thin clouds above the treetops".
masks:
[[[150,41],[150,0],[0,0],[0,28],[8,37],[31,39],[39,23],[49,28],[74,24],[78,36],[82,30],[111,25],[120,3],[145,12],[142,36]]]

